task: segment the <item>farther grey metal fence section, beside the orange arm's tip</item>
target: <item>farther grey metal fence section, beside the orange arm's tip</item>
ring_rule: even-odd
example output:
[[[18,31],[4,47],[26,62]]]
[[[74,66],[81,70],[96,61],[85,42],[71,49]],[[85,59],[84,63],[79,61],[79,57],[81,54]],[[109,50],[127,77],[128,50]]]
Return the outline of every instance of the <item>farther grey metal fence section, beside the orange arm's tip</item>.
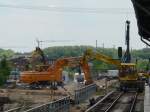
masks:
[[[74,95],[75,104],[79,104],[84,100],[86,100],[87,98],[89,98],[91,95],[93,95],[96,92],[96,88],[97,88],[96,84],[91,84],[78,90],[75,90]]]

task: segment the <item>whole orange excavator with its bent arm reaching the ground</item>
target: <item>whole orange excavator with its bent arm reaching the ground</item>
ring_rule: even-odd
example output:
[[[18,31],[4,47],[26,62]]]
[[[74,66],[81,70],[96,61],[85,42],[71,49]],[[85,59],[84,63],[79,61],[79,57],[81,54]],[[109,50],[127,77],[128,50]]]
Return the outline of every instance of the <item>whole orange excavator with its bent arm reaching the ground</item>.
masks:
[[[84,72],[86,84],[91,84],[92,78],[88,63],[83,57],[68,57],[60,58],[55,61],[53,65],[45,69],[37,69],[34,71],[21,72],[20,82],[28,83],[30,85],[50,85],[58,86],[63,84],[62,71],[64,67],[78,67],[80,66]]]

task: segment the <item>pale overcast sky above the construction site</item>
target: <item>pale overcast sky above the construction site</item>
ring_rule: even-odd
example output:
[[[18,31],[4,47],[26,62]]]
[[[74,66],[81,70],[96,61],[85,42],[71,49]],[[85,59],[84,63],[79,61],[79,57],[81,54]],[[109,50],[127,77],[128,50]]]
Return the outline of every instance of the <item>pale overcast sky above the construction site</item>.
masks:
[[[18,52],[41,47],[92,45],[125,48],[125,21],[131,47],[141,49],[131,0],[0,0],[0,47]],[[54,42],[55,41],[55,42]]]

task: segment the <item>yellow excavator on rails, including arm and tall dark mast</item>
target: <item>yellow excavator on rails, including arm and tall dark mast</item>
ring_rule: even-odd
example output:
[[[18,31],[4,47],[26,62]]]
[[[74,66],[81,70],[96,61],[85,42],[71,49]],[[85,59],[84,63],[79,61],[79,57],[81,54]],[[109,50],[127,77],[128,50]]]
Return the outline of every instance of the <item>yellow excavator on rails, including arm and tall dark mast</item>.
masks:
[[[120,90],[138,90],[142,92],[144,90],[144,81],[138,75],[136,64],[131,63],[131,54],[130,54],[130,21],[126,21],[126,45],[127,49],[122,57],[122,48],[118,47],[118,57],[119,59],[115,60],[109,56],[103,55],[98,52],[93,52],[92,50],[87,50],[85,52],[85,58],[96,59],[108,64],[115,65],[119,70],[119,83]]]

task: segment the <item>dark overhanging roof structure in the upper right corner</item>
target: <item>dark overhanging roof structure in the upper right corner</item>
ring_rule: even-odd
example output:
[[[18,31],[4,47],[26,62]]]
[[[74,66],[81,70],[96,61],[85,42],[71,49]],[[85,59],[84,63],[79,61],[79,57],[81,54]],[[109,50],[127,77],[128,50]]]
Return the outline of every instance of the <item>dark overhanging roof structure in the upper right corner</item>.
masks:
[[[150,0],[131,0],[141,40],[150,46]]]

